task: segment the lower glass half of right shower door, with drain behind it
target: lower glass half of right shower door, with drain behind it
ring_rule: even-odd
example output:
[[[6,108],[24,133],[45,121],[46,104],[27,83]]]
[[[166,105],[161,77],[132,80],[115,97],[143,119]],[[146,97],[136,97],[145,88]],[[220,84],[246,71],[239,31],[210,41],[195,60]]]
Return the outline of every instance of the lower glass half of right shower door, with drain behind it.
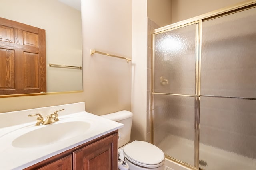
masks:
[[[255,170],[255,144],[256,100],[201,97],[201,168]]]

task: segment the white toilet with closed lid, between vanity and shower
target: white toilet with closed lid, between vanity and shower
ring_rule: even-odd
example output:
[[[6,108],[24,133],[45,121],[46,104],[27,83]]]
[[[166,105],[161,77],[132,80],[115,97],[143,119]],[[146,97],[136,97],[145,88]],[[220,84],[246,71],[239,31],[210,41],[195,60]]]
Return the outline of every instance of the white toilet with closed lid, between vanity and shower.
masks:
[[[101,117],[124,124],[119,129],[118,152],[123,152],[129,170],[164,170],[164,152],[161,149],[144,141],[129,143],[132,128],[130,111],[118,111]]]

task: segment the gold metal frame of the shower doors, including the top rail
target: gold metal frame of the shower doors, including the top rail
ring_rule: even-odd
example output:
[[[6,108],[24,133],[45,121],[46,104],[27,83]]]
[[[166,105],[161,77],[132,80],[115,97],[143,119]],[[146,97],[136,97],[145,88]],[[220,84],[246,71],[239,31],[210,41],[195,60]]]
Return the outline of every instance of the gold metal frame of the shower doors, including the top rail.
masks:
[[[174,23],[171,25],[167,25],[165,27],[162,28],[158,28],[155,29],[152,32],[152,69],[151,69],[151,104],[150,104],[150,110],[151,110],[151,138],[150,141],[151,143],[153,143],[154,141],[154,95],[173,95],[173,96],[186,96],[186,97],[194,97],[195,98],[195,110],[194,110],[194,130],[195,130],[195,139],[194,139],[194,166],[186,163],[186,162],[182,162],[180,160],[177,160],[175,158],[172,158],[170,156],[166,155],[166,158],[169,160],[172,160],[174,162],[177,162],[179,164],[182,164],[188,168],[194,169],[194,170],[198,170],[199,168],[199,130],[200,130],[200,75],[201,75],[201,47],[202,47],[202,22],[203,21],[207,21],[207,20],[212,20],[214,18],[218,18],[221,16],[225,16],[228,14],[232,14],[232,13],[236,13],[236,12],[240,12],[243,10],[248,10],[250,8],[254,8],[256,7],[256,0],[250,0],[247,2],[243,2],[240,4],[237,4],[235,6],[232,7],[228,7],[228,8],[222,8],[220,10],[216,10],[213,12],[209,12],[188,20],[184,20],[184,21],[180,21],[178,23]],[[181,27],[185,27],[188,25],[196,25],[196,37],[195,37],[195,41],[196,41],[196,49],[195,49],[195,54],[196,54],[196,69],[195,69],[195,94],[194,95],[186,95],[186,94],[171,94],[171,93],[159,93],[159,92],[155,92],[155,84],[154,84],[154,80],[155,80],[155,35],[160,34],[160,33],[164,33],[167,31],[172,31],[174,29],[178,29]],[[210,96],[209,96],[210,97]],[[218,96],[215,96],[218,97]]]

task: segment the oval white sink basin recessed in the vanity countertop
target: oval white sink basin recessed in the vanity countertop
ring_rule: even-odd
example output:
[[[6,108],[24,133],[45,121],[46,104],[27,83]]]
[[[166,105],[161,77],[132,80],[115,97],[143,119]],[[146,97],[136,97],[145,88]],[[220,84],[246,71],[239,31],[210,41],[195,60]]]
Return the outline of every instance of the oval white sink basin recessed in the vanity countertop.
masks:
[[[38,129],[23,133],[14,139],[12,146],[31,148],[50,145],[83,135],[90,126],[90,123],[86,121],[56,122],[38,126]]]

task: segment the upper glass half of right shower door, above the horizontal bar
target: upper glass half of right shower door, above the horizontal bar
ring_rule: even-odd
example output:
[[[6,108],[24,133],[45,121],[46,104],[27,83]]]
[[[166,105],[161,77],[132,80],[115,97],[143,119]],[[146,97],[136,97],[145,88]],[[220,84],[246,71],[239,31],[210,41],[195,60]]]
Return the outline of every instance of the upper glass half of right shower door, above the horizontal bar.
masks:
[[[202,24],[201,94],[256,98],[256,8]]]

